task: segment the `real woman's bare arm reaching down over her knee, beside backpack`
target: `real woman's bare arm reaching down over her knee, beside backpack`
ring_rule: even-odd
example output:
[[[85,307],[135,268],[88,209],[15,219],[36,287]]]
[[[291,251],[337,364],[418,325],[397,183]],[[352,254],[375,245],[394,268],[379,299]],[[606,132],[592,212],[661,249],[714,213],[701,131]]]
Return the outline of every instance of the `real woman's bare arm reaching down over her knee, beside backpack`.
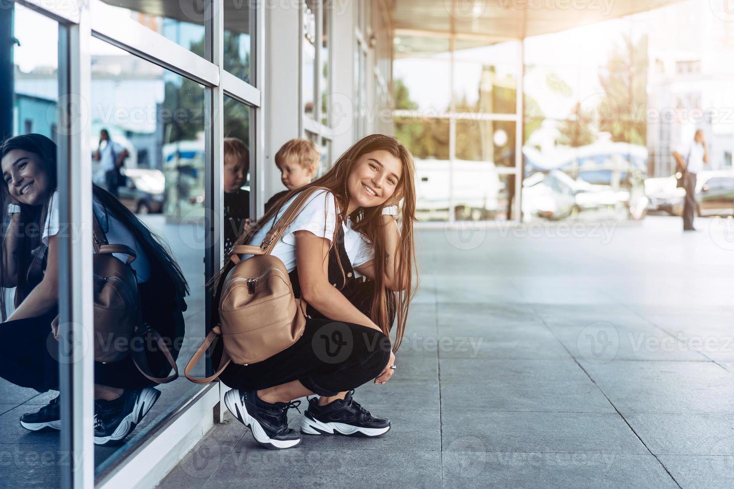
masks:
[[[332,320],[382,331],[329,283],[329,240],[305,230],[296,231],[294,235],[302,298]]]

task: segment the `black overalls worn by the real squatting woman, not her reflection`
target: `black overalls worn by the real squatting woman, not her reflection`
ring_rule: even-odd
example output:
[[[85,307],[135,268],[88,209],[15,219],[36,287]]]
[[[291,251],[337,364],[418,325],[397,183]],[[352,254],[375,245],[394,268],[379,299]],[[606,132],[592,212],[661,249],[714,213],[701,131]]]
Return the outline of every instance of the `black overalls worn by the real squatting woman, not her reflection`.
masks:
[[[329,253],[329,282],[369,317],[374,282],[355,279],[352,263],[344,249],[344,229],[338,226],[337,232],[337,240]],[[344,268],[344,281],[337,254]],[[288,275],[294,294],[299,297],[298,267]],[[394,315],[392,293],[388,295],[388,304]],[[230,363],[219,375],[222,382],[233,389],[254,390],[299,380],[316,394],[333,396],[377,378],[385,369],[391,346],[385,334],[367,326],[330,320],[310,305],[307,313],[310,318],[306,320],[303,336],[294,345],[256,364]],[[221,358],[222,342],[217,342],[211,364],[218,365]]]

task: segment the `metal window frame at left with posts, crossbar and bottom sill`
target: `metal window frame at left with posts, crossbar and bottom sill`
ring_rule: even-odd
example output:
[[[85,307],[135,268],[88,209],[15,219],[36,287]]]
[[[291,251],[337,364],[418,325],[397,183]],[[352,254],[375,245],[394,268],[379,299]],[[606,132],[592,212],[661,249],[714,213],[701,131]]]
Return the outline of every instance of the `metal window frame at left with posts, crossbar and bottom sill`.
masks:
[[[224,210],[222,165],[217,162],[222,161],[223,155],[222,106],[225,92],[252,108],[250,150],[255,154],[255,165],[251,169],[254,173],[251,175],[251,187],[255,190],[252,194],[257,194],[258,190],[264,188],[264,175],[257,171],[264,158],[264,9],[257,8],[255,19],[251,21],[253,32],[250,36],[251,40],[254,38],[254,49],[251,44],[250,59],[255,60],[255,75],[251,77],[255,81],[253,86],[223,69],[223,0],[208,0],[211,2],[209,7],[217,7],[214,15],[207,21],[208,27],[205,26],[206,49],[211,50],[212,62],[129,18],[118,19],[115,26],[94,26],[94,1],[15,0],[23,7],[59,23],[58,164],[59,169],[64,170],[59,171],[59,188],[65,189],[60,192],[59,219],[68,222],[73,229],[79,229],[78,232],[59,236],[60,343],[69,345],[69,354],[59,357],[65,359],[59,368],[59,389],[64,391],[60,406],[60,450],[70,454],[70,463],[61,469],[59,485],[64,489],[90,488],[95,482],[99,487],[120,487],[128,485],[131,474],[148,482],[152,482],[150,474],[164,475],[206,433],[204,428],[207,418],[204,416],[202,419],[202,415],[211,412],[223,393],[220,383],[202,386],[139,446],[133,447],[132,452],[120,460],[120,463],[95,481],[92,438],[94,369],[93,356],[86,354],[87,347],[92,345],[93,328],[84,327],[94,322],[92,302],[84,301],[84,298],[92,297],[92,235],[91,227],[84,226],[84,223],[89,223],[92,219],[92,188],[88,185],[92,181],[90,127],[86,117],[91,100],[91,38],[97,37],[116,45],[129,54],[197,81],[205,87],[206,111],[210,121],[206,126],[205,136],[205,151],[208,155],[205,185],[210,191],[210,202],[214,203],[208,209],[211,229],[207,237],[205,257],[208,273],[222,265],[222,240],[214,240],[214,236],[221,235],[222,222],[217,216],[223,216]],[[60,353],[61,351],[64,350],[60,350]],[[180,439],[175,446],[169,443],[177,436],[181,438],[181,430],[191,427],[197,420],[202,429],[194,433],[195,438]],[[211,422],[211,418],[208,420]],[[197,424],[195,428],[198,427]],[[178,452],[178,458],[172,457],[172,452]],[[141,465],[142,462],[145,464]],[[150,472],[140,471],[139,468],[143,466],[149,467]]]

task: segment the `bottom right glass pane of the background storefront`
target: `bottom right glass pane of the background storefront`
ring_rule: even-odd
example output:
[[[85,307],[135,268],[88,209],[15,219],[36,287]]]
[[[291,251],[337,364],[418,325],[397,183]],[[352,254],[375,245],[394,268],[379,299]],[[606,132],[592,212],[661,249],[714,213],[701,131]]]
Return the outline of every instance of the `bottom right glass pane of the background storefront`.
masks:
[[[499,174],[484,161],[454,161],[451,191],[454,219],[488,221],[506,219],[514,202],[515,175]]]

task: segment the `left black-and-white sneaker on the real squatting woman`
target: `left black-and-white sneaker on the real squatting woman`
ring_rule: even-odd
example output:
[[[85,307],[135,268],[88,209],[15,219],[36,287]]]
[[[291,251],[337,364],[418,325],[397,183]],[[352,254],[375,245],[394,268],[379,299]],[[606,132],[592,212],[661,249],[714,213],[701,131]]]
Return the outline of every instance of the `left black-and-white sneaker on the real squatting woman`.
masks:
[[[250,428],[255,441],[268,449],[293,448],[301,443],[301,434],[288,428],[288,408],[296,408],[300,413],[300,403],[265,402],[256,391],[232,389],[225,394],[230,413]]]

